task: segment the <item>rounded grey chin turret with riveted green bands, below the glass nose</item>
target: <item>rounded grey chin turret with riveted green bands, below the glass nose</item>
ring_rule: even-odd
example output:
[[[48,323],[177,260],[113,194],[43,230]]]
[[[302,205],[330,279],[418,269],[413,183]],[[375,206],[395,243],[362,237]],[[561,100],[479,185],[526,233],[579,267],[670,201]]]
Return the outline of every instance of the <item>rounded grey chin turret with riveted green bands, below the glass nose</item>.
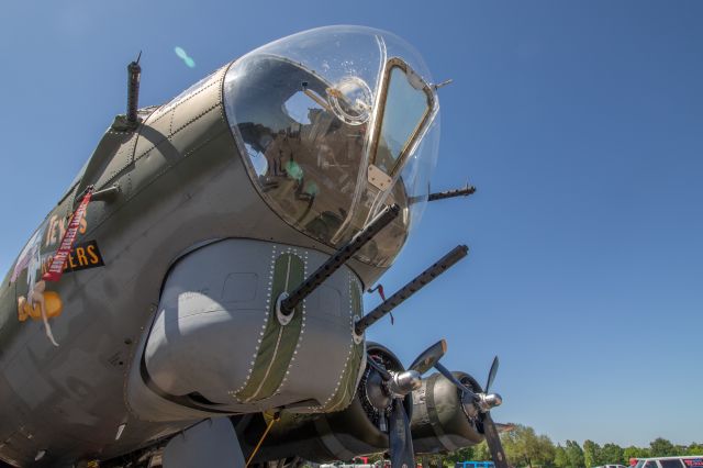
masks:
[[[356,275],[343,267],[289,321],[276,314],[276,299],[326,258],[253,239],[220,241],[181,258],[145,346],[147,387],[201,411],[348,405],[364,358],[354,337],[362,291]]]

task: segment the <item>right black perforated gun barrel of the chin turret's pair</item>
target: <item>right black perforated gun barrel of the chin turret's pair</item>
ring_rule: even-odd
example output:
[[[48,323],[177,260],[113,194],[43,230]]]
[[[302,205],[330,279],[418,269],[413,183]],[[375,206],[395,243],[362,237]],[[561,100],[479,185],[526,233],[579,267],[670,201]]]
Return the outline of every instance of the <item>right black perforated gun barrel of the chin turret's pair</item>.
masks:
[[[380,319],[382,319],[390,311],[400,305],[405,299],[420,291],[422,288],[432,282],[439,275],[453,267],[461,258],[466,257],[469,253],[469,247],[466,245],[457,245],[447,255],[442,257],[433,266],[417,275],[412,281],[403,286],[398,292],[383,301],[380,305],[373,309],[371,312],[359,319],[354,325],[357,335],[361,335],[366,328],[373,325]]]

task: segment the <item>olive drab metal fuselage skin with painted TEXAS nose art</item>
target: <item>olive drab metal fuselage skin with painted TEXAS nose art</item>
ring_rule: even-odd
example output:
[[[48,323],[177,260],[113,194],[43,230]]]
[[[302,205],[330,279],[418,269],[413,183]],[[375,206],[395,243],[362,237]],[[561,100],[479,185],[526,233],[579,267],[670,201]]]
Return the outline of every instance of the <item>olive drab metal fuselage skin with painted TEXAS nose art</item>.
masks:
[[[23,260],[21,255],[5,276],[0,289],[0,458],[24,465],[40,450],[55,461],[109,458],[212,414],[207,405],[183,410],[147,394],[138,377],[145,331],[159,312],[165,278],[190,250],[241,238],[270,245],[269,257],[274,248],[286,255],[295,246],[301,258],[304,252],[320,263],[333,252],[286,224],[254,189],[223,110],[226,69],[176,102],[141,110],[143,122],[135,131],[109,129],[82,175],[30,239],[24,256],[33,256]],[[118,186],[119,194],[90,203],[63,278],[45,283],[55,346],[38,301],[31,307],[25,301],[22,309],[18,301],[33,292],[30,275],[41,282],[42,268],[89,185],[96,191]],[[346,287],[353,281],[358,290],[383,271],[358,260],[349,266]],[[344,347],[347,352],[349,344]],[[350,380],[360,360],[355,363]],[[343,368],[335,369],[335,382]],[[132,388],[131,377],[137,382]],[[348,404],[350,395],[345,398]],[[157,414],[141,415],[131,408],[142,402],[156,405]],[[266,402],[249,408],[259,411],[261,405]]]

